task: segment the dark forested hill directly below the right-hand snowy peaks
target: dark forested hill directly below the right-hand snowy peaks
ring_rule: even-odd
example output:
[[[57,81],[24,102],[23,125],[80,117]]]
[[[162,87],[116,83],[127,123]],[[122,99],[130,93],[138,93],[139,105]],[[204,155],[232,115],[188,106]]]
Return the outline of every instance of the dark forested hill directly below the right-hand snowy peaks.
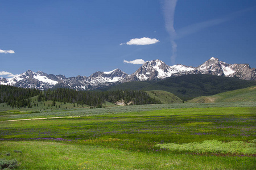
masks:
[[[171,92],[182,100],[189,100],[199,96],[215,95],[250,86],[256,86],[256,81],[195,74],[171,77],[157,82],[127,82],[101,90],[163,90]]]

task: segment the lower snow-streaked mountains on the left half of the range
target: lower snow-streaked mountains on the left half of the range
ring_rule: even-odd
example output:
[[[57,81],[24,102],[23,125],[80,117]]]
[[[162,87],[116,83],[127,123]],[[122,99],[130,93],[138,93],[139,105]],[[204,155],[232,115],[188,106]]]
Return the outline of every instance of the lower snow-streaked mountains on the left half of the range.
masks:
[[[0,84],[23,88],[36,88],[39,90],[46,90],[53,87],[72,88],[75,90],[93,90],[100,87],[113,86],[127,75],[128,74],[123,71],[115,69],[108,72],[97,71],[89,77],[79,75],[66,78],[64,75],[46,74],[42,71],[35,73],[28,70],[13,78],[1,78]]]

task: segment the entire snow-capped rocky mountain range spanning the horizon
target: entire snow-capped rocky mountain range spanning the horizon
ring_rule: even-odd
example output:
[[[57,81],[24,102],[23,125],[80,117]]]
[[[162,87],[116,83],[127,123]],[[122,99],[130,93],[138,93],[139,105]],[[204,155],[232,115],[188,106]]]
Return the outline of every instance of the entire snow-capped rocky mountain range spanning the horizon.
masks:
[[[155,59],[145,62],[135,73],[130,75],[120,69],[115,69],[105,72],[97,71],[88,77],[78,75],[66,78],[64,75],[46,74],[43,71],[35,73],[28,70],[13,78],[0,78],[0,84],[22,88],[36,88],[39,90],[57,87],[75,90],[94,90],[125,82],[162,80],[171,76],[188,74],[208,74],[256,80],[256,69],[251,69],[249,64],[228,64],[212,57],[198,67],[185,65],[168,66],[160,59]]]

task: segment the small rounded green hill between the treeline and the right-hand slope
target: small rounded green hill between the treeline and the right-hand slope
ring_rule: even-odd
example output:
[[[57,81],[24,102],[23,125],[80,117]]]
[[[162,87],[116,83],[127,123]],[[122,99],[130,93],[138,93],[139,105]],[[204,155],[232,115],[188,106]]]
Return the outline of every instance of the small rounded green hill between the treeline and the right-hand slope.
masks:
[[[146,91],[146,92],[150,97],[161,101],[161,103],[163,103],[163,104],[182,103],[182,100],[179,97],[177,97],[174,94],[171,94],[170,92],[167,92],[167,91],[152,90],[152,91]]]

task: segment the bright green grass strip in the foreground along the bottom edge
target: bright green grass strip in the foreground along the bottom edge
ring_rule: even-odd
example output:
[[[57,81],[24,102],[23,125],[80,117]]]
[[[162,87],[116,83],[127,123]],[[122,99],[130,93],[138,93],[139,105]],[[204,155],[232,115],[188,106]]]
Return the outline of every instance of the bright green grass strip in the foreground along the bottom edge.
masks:
[[[120,150],[60,142],[3,142],[19,169],[253,169],[255,158]],[[14,150],[22,150],[16,153]],[[2,154],[3,155],[3,154]],[[2,157],[2,156],[1,156]]]

